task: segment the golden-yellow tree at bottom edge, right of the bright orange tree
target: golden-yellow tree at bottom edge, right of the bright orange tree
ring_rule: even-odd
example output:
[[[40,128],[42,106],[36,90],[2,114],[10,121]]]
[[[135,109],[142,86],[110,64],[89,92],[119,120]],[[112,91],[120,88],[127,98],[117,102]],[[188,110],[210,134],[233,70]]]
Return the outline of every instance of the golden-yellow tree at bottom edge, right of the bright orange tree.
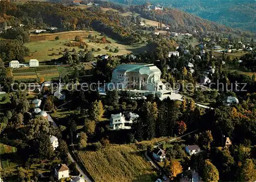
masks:
[[[208,159],[204,161],[202,177],[206,182],[216,182],[219,180],[218,169]]]

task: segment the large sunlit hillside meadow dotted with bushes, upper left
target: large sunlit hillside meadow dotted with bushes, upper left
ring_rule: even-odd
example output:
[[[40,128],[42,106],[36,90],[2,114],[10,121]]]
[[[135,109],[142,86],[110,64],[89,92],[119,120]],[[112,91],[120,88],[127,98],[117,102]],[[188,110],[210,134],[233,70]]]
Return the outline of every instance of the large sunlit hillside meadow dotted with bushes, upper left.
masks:
[[[148,47],[146,44],[132,44],[132,45],[125,45],[122,42],[117,42],[109,37],[107,40],[111,41],[111,43],[93,43],[89,42],[88,35],[97,36],[97,38],[102,38],[100,33],[98,32],[91,32],[91,31],[73,31],[73,32],[61,32],[56,34],[39,34],[36,36],[31,36],[31,42],[26,43],[25,46],[29,48],[30,55],[25,57],[25,61],[28,62],[30,59],[37,59],[38,61],[46,61],[51,59],[57,59],[62,57],[64,53],[64,49],[68,48],[70,51],[75,48],[76,51],[83,50],[79,47],[69,47],[64,45],[65,43],[69,43],[70,41],[74,40],[75,36],[80,36],[83,38],[83,41],[87,42],[88,50],[94,48],[96,51],[93,52],[94,56],[110,54],[110,55],[125,55],[130,54],[132,52],[138,53],[143,52]],[[55,37],[58,36],[60,39],[55,40]],[[113,50],[115,48],[119,49],[118,53],[112,53],[109,50],[106,50],[105,47],[109,46]],[[97,49],[100,48],[100,51]],[[55,54],[52,56],[52,54]],[[61,54],[59,54],[61,53]]]

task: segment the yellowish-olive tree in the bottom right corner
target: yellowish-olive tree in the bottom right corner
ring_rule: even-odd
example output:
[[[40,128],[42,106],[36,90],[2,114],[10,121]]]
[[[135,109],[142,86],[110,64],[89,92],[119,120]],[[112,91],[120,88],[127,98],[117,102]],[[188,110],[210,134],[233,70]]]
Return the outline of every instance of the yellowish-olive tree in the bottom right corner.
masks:
[[[240,167],[239,174],[240,181],[255,181],[256,180],[256,169],[255,164],[251,159],[246,159]]]

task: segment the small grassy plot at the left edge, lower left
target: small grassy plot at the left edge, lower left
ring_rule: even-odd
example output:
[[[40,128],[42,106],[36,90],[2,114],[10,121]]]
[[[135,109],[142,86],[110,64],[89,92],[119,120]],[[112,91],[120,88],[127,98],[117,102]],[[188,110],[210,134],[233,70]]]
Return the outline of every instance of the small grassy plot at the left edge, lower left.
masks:
[[[17,152],[15,147],[0,143],[0,159],[2,169],[7,170],[8,168],[16,166],[13,156]],[[0,169],[1,169],[0,166]]]

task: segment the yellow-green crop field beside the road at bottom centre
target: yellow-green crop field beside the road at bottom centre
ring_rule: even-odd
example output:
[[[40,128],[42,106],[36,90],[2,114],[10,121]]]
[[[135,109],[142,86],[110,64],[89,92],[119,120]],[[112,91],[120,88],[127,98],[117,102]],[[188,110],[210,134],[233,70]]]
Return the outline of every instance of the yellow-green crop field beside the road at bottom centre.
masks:
[[[155,172],[130,146],[110,146],[99,151],[78,151],[84,167],[95,181],[155,181]]]

